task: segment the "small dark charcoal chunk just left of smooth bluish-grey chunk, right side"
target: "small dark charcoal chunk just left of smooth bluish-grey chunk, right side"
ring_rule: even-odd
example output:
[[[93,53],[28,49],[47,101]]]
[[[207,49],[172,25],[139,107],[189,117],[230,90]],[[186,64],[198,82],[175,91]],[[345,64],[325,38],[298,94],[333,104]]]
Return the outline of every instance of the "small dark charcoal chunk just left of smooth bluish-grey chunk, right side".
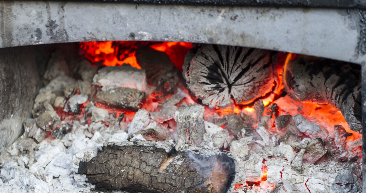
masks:
[[[277,133],[280,136],[284,136],[286,133],[293,133],[296,136],[302,136],[301,131],[296,126],[294,119],[292,119],[291,115],[280,115],[275,119],[275,126]]]

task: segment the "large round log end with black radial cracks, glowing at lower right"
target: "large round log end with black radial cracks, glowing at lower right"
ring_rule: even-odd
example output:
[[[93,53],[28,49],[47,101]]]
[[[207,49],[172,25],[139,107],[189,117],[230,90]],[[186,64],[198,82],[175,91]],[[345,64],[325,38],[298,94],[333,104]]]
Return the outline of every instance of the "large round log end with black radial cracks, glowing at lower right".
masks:
[[[185,60],[183,75],[188,88],[210,108],[234,101],[248,104],[273,87],[270,52],[266,50],[205,44]]]

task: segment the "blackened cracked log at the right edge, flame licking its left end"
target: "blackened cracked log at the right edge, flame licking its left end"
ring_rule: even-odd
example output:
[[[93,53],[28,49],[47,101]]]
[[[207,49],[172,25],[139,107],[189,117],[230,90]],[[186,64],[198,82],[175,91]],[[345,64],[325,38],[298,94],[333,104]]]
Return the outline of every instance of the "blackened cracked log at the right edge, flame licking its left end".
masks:
[[[332,104],[352,130],[362,132],[359,65],[302,56],[288,62],[283,74],[292,99]]]

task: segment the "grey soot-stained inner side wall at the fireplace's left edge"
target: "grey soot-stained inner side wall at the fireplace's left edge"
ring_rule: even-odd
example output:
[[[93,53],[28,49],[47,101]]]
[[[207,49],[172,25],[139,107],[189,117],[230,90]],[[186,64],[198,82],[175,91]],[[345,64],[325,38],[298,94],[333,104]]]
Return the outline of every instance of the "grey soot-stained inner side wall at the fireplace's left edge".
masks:
[[[22,134],[30,117],[40,75],[29,47],[4,48],[0,52],[0,155]]]

